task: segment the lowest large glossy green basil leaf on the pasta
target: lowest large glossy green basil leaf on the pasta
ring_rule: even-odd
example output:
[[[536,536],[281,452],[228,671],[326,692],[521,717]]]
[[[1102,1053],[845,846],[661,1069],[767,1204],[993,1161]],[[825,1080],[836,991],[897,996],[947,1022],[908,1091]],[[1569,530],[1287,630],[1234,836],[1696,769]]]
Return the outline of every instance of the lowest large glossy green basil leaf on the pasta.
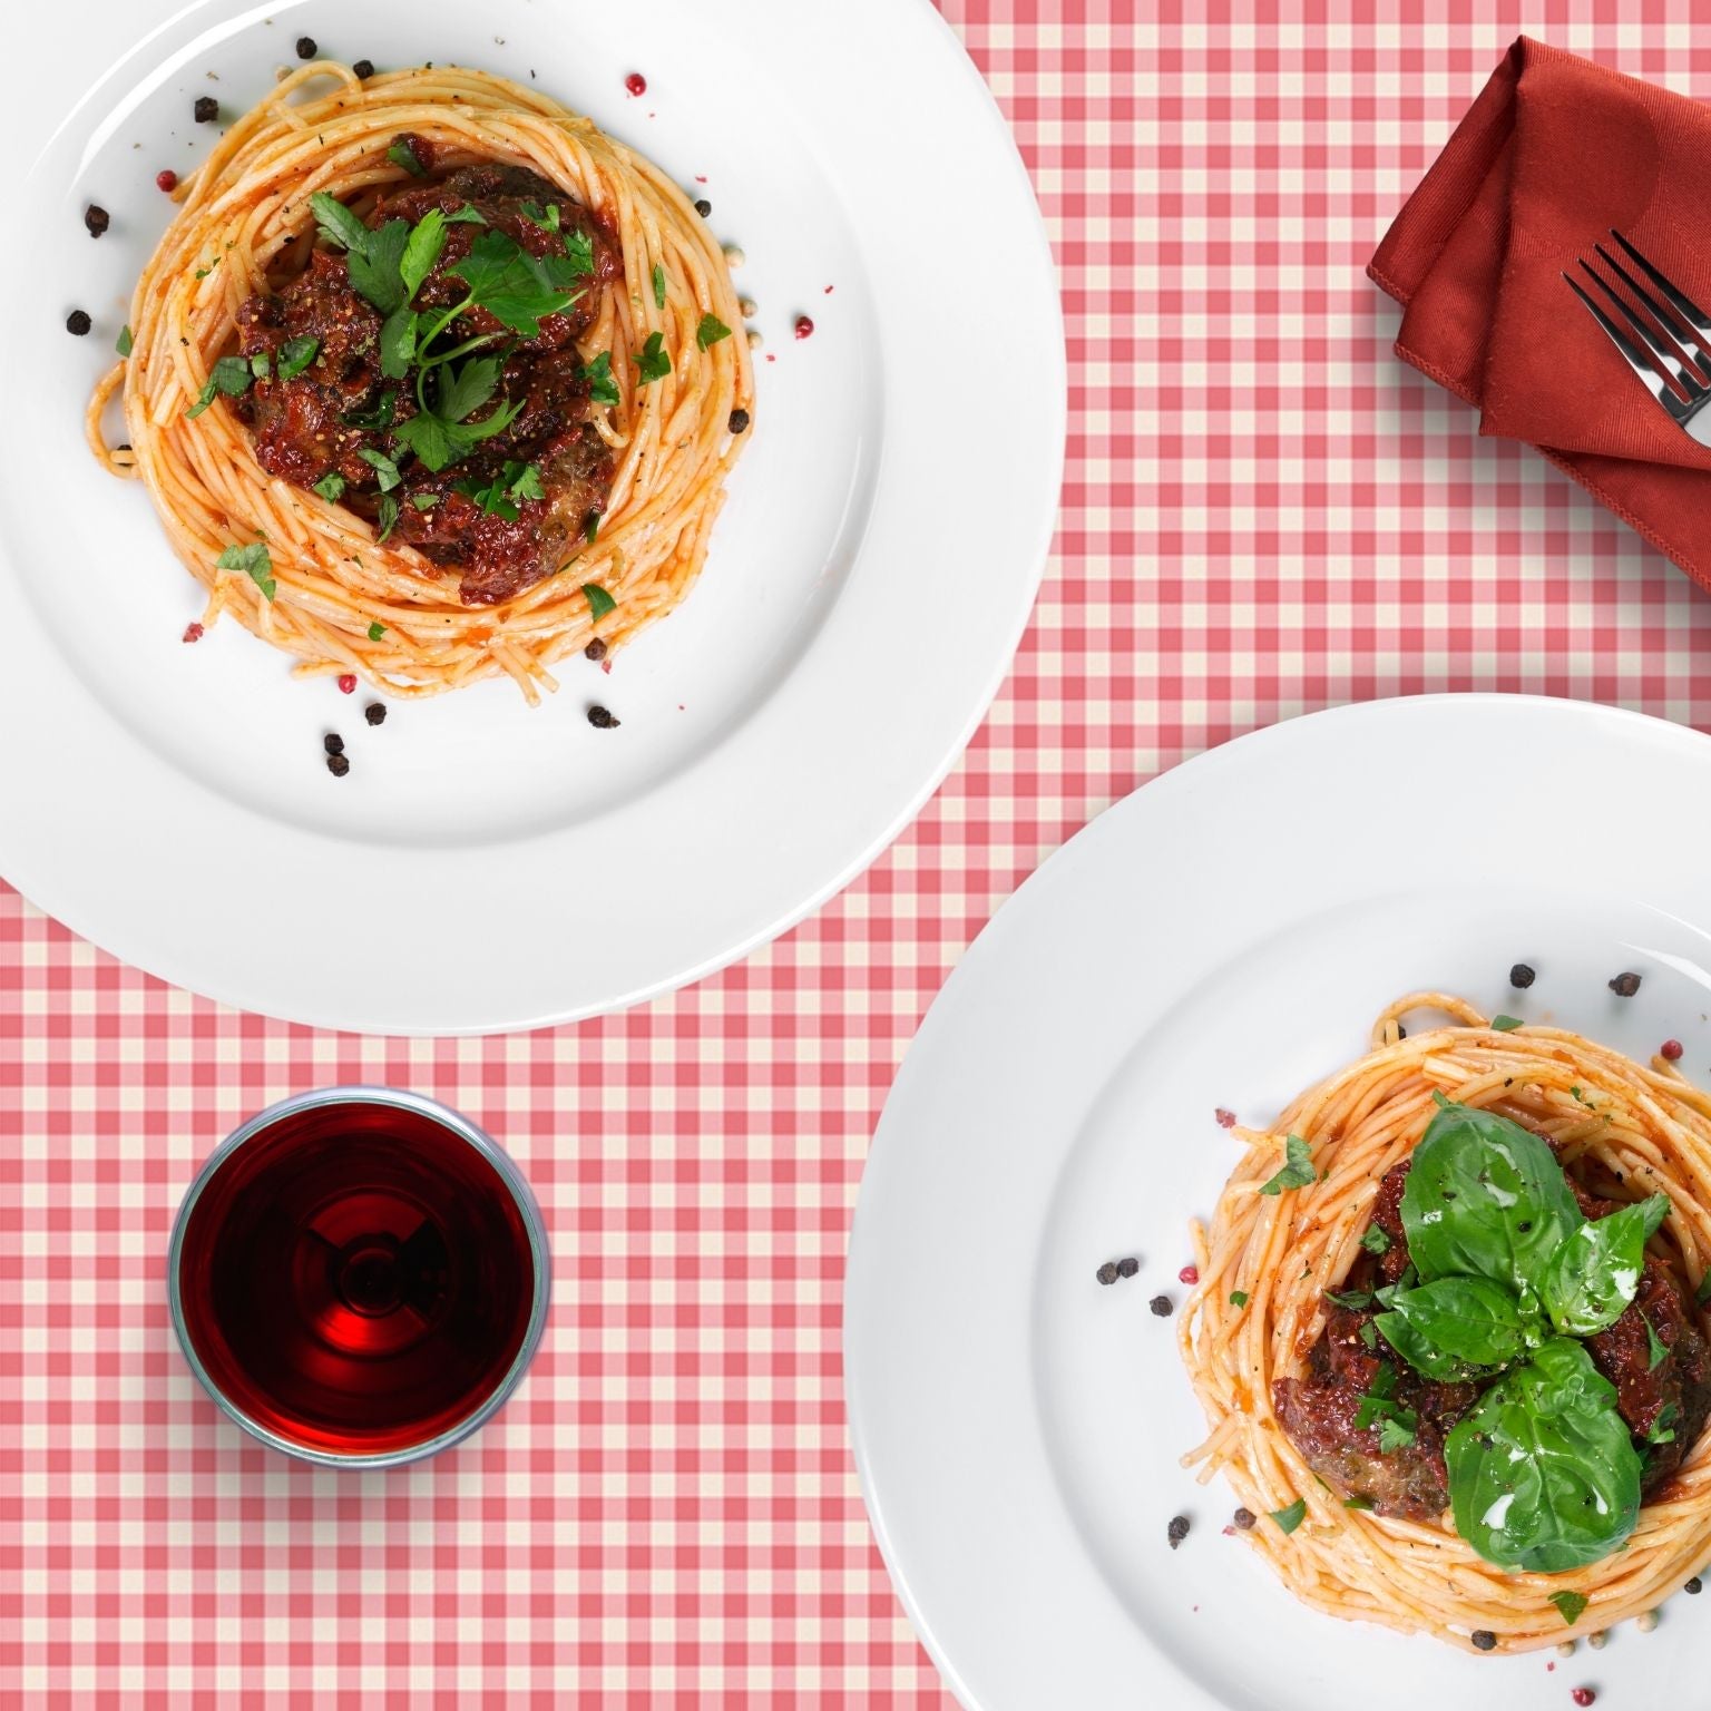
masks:
[[[1598,1562],[1639,1518],[1639,1456],[1615,1386],[1567,1338],[1485,1391],[1444,1458],[1456,1531],[1509,1574]]]

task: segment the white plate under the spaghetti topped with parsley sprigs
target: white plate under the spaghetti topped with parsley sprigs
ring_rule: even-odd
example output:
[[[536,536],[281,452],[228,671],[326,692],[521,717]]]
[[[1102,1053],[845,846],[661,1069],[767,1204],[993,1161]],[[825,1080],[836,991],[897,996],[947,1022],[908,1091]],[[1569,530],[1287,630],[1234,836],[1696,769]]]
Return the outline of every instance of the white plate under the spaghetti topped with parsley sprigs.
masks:
[[[31,74],[0,120],[24,173],[12,229],[29,233],[27,265],[0,270],[0,873],[168,980],[373,1032],[589,1015],[801,919],[979,722],[1061,476],[1051,253],[938,14],[210,0],[157,7],[110,65],[149,24],[133,0],[7,19]],[[775,359],[702,583],[611,676],[566,660],[539,712],[491,683],[370,731],[363,690],[293,681],[236,625],[185,647],[198,585],[140,484],[84,450],[84,397],[171,209],[154,175],[205,154],[197,96],[248,108],[299,34],[382,67],[534,74],[693,183],[748,255],[739,286]],[[99,241],[91,198],[113,214]],[[72,306],[91,337],[62,330]],[[797,313],[816,323],[801,342]],[[590,702],[623,727],[590,729]]]

